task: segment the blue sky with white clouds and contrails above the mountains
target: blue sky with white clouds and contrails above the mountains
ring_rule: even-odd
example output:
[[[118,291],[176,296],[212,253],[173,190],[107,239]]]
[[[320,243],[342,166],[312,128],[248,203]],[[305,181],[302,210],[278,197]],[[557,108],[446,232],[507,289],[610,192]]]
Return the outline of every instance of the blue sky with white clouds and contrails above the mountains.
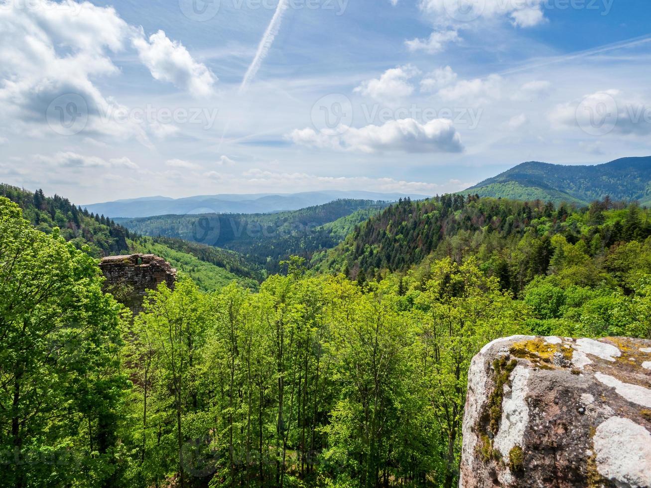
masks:
[[[648,0],[0,0],[0,182],[436,195],[651,155]]]

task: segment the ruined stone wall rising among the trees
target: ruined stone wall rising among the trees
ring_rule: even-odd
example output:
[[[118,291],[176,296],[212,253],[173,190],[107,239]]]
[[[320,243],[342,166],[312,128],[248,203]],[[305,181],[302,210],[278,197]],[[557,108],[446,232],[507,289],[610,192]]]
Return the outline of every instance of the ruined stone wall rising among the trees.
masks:
[[[108,256],[100,262],[100,269],[106,278],[104,291],[113,294],[133,314],[142,311],[147,290],[154,290],[161,283],[174,290],[176,282],[176,269],[154,254]]]

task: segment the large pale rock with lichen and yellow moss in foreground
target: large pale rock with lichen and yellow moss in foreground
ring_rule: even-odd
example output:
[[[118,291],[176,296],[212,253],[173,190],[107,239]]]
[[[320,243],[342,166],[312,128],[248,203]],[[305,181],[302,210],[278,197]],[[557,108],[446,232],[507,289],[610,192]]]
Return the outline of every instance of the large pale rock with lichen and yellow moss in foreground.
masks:
[[[485,346],[469,370],[460,487],[651,487],[651,341]]]

